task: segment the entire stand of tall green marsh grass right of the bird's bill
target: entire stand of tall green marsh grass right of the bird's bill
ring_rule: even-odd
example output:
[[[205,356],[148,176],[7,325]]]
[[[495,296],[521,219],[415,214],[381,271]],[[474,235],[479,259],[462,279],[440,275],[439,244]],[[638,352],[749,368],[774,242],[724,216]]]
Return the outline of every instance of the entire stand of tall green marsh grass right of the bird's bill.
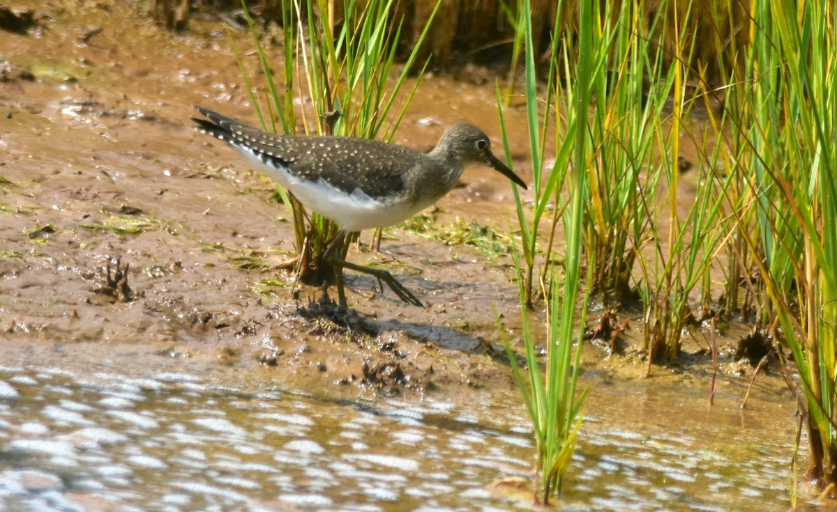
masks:
[[[564,12],[562,6],[557,12]],[[730,24],[716,21],[711,41],[698,40],[700,31],[691,28],[695,17],[705,14],[696,11],[696,3],[657,3],[651,18],[645,18],[643,3],[579,3],[579,8],[578,38],[565,33],[560,44],[552,40],[553,61],[540,95],[531,33],[526,33],[531,27],[526,17],[516,23],[524,31],[516,40],[526,45],[535,182],[531,210],[516,194],[521,304],[532,305],[539,291],[546,298],[548,347],[558,362],[549,354],[546,370],[539,369],[526,326],[528,379],[511,359],[535,424],[542,489],[560,485],[562,473],[553,468],[568,462],[562,450],[572,452],[567,447],[578,432],[573,422],[552,430],[557,423],[548,418],[554,410],[561,411],[562,420],[578,414],[579,402],[567,394],[574,384],[562,384],[566,376],[555,375],[570,367],[565,351],[572,346],[573,321],[584,319],[584,307],[574,309],[573,294],[581,259],[588,269],[585,294],[617,299],[626,292],[639,294],[649,364],[679,356],[695,306],[706,315],[717,315],[713,308],[749,312],[762,328],[773,326],[798,366],[798,376],[783,371],[801,391],[810,439],[806,476],[824,487],[837,484],[837,11],[824,0],[753,4],[745,27],[750,44],[742,48],[731,44],[742,39],[741,27],[732,21],[742,8],[731,3],[711,6],[718,14],[714,19]],[[556,28],[564,23],[557,21]],[[592,33],[586,38],[588,28]],[[711,44],[719,55],[716,63],[706,62]],[[708,74],[726,77],[727,84],[712,88]],[[592,112],[586,110],[588,85]],[[500,105],[499,90],[497,96]],[[556,106],[559,98],[563,103]],[[687,119],[698,102],[706,107],[708,121],[696,130]],[[544,134],[552,120],[556,166],[545,170]],[[699,152],[693,171],[696,197],[686,207],[678,197],[684,133],[694,138]],[[560,304],[549,264],[556,233],[539,229],[549,211],[554,220],[564,220],[567,237]],[[578,236],[583,251],[573,245]],[[720,300],[713,302],[710,271],[716,264],[726,282]],[[537,283],[546,285],[538,289]],[[558,323],[556,335],[552,329]],[[556,387],[550,384],[553,378]],[[563,394],[552,397],[556,389]],[[564,405],[546,405],[552,400]],[[554,438],[553,446],[563,448],[549,452],[547,436],[555,432],[563,437]]]

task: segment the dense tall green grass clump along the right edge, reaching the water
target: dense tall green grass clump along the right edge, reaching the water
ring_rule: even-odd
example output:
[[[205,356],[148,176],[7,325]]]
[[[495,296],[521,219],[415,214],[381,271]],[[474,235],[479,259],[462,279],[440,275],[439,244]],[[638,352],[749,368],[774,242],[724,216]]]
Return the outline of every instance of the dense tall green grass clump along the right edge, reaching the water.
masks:
[[[837,13],[770,0],[752,14],[729,97],[751,206],[733,215],[763,280],[759,320],[781,325],[798,367],[786,378],[802,391],[806,477],[826,487],[837,484]]]

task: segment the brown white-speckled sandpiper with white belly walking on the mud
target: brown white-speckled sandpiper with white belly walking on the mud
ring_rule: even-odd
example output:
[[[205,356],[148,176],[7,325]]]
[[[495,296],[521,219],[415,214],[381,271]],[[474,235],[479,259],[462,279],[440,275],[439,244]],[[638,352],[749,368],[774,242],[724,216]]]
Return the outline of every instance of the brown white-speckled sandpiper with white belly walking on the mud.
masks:
[[[392,274],[346,261],[349,233],[400,223],[444,197],[469,166],[483,164],[526,189],[526,182],[491,152],[485,132],[457,124],[428,153],[357,137],[285,136],[259,130],[198,105],[194,129],[231,146],[259,172],[290,191],[304,207],[341,227],[323,259],[335,272],[339,307],[347,309],[342,271],[386,283],[404,302],[422,302]]]

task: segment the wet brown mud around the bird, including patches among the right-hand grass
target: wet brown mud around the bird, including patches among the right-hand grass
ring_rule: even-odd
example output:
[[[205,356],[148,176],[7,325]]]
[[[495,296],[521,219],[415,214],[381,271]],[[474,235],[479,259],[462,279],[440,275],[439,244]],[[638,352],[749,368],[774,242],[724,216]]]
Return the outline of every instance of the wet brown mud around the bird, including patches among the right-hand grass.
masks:
[[[177,361],[180,371],[334,397],[468,402],[511,390],[496,328],[501,315],[519,341],[508,254],[403,227],[372,253],[364,233],[349,258],[390,269],[426,308],[347,274],[350,305],[377,334],[306,316],[321,289],[295,286],[290,216],[274,185],[191,129],[193,104],[254,122],[223,25],[193,19],[171,33],[116,0],[40,9],[33,28],[4,32],[0,43],[0,364],[121,361],[121,371],[141,373]],[[249,36],[234,38],[252,71]],[[428,75],[395,142],[428,150],[454,122],[480,125],[499,145],[493,86]],[[522,112],[510,108],[506,122],[516,171],[531,179]],[[506,233],[506,179],[474,168],[462,182],[436,205],[434,225],[475,220]],[[636,346],[641,319],[625,320],[625,355],[589,344],[582,376],[629,395],[647,366]],[[732,325],[719,341],[717,399],[728,405],[752,378],[733,356],[747,330]],[[711,357],[699,338],[687,336],[682,359],[655,367],[651,382],[708,394]],[[775,368],[756,382],[754,400],[793,407]]]

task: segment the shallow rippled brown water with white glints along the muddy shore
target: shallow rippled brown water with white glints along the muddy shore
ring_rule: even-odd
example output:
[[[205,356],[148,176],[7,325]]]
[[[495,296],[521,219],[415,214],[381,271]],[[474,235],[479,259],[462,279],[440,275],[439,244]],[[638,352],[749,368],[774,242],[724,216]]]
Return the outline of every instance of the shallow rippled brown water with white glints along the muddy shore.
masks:
[[[709,410],[631,386],[591,394],[562,509],[788,507],[781,404]],[[531,509],[491,485],[531,468],[508,399],[341,402],[187,373],[3,367],[0,509]]]

